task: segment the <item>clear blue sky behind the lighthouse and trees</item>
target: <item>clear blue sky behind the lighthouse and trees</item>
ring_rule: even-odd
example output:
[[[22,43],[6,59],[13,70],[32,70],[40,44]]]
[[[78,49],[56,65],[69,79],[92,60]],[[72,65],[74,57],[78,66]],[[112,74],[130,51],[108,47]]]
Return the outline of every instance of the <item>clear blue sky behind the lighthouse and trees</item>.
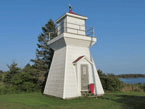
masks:
[[[95,28],[90,51],[97,69],[145,73],[145,0],[0,0],[0,70],[35,59],[41,27],[68,12],[69,3]]]

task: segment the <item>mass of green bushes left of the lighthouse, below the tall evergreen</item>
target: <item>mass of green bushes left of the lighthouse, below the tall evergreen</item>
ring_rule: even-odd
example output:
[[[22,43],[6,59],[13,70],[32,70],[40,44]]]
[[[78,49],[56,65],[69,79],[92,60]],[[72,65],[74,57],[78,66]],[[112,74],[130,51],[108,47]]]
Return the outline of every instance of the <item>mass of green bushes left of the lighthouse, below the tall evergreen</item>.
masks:
[[[0,93],[19,93],[40,91],[41,83],[39,79],[40,71],[27,64],[23,69],[17,67],[17,63],[13,62],[8,65],[9,71],[4,75],[4,87],[0,89]],[[1,79],[1,76],[0,76]]]

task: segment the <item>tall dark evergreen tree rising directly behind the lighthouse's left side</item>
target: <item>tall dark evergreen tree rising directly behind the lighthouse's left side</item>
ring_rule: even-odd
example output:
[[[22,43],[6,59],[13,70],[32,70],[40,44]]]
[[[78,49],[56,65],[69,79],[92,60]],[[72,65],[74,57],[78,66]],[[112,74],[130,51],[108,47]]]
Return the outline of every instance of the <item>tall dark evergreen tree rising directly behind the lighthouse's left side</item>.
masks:
[[[49,70],[53,50],[49,48],[47,42],[50,39],[56,37],[56,25],[52,19],[42,27],[42,33],[38,36],[38,44],[36,49],[36,59],[32,59],[31,61],[34,62],[33,67],[39,71],[47,72]]]

